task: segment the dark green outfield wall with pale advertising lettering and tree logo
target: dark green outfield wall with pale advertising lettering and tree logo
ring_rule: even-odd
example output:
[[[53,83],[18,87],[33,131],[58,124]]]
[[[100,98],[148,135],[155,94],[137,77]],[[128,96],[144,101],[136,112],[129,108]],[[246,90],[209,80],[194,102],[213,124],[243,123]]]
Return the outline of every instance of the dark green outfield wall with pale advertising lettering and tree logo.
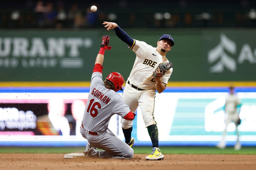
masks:
[[[124,29],[156,47],[162,34],[175,45],[169,81],[256,81],[255,29]],[[0,81],[90,81],[101,37],[110,36],[103,78],[120,72],[127,79],[135,54],[113,30],[1,30]]]

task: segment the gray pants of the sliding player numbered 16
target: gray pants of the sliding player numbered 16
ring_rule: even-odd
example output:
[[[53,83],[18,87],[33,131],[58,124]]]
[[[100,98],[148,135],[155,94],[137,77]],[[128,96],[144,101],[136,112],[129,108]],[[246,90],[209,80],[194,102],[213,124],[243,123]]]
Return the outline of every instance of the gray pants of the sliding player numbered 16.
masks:
[[[80,128],[82,136],[88,140],[85,152],[90,148],[95,150],[92,152],[92,157],[104,159],[131,159],[133,156],[133,149],[124,141],[116,137],[109,129],[100,135],[90,135],[84,128]],[[98,151],[96,148],[105,151]]]

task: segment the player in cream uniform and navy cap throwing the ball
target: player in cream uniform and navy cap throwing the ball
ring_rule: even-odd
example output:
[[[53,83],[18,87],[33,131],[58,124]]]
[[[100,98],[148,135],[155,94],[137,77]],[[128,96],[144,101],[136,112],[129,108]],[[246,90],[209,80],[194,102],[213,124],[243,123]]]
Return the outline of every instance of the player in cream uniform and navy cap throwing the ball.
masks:
[[[164,155],[159,149],[158,129],[154,119],[154,103],[156,91],[161,93],[165,90],[172,74],[172,68],[163,77],[152,77],[152,74],[156,69],[159,71],[159,63],[169,62],[165,55],[174,45],[173,38],[171,35],[164,34],[157,41],[155,48],[146,42],[132,39],[116,23],[103,22],[103,25],[107,27],[107,30],[115,29],[118,38],[124,41],[128,48],[136,54],[132,71],[126,81],[123,98],[133,113],[138,106],[141,109],[145,127],[148,129],[152,141],[152,152],[146,157],[146,160],[164,159]],[[131,137],[132,121],[122,119],[121,123],[125,142],[128,145],[133,144],[134,139]]]

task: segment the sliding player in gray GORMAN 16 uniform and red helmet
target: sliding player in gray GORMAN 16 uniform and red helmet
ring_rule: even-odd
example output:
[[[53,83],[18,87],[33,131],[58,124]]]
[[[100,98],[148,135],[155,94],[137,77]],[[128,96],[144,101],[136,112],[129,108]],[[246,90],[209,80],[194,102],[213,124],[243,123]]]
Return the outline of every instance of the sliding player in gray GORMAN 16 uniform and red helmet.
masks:
[[[87,157],[131,159],[133,149],[108,129],[108,123],[114,114],[130,121],[135,116],[124,103],[122,96],[116,93],[123,90],[123,76],[117,72],[112,72],[104,82],[102,81],[104,53],[106,49],[111,48],[108,46],[108,42],[109,37],[104,35],[92,73],[90,92],[80,132],[88,140],[85,149]],[[96,150],[97,148],[104,151]]]

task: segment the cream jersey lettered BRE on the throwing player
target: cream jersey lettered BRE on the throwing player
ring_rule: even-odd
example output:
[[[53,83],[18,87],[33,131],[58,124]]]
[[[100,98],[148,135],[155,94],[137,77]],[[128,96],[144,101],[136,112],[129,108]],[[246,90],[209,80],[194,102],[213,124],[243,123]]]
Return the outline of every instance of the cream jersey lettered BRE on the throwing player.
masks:
[[[148,45],[146,42],[135,40],[136,43],[132,48],[132,51],[136,54],[136,59],[132,67],[132,71],[128,77],[128,80],[135,86],[141,89],[155,88],[156,81],[152,77],[153,72],[157,69],[159,63],[169,62],[168,59],[160,55],[155,47]],[[129,47],[129,46],[128,46]],[[130,48],[130,47],[129,47]],[[166,72],[162,77],[164,84],[168,83],[168,80],[172,74],[172,68]]]

